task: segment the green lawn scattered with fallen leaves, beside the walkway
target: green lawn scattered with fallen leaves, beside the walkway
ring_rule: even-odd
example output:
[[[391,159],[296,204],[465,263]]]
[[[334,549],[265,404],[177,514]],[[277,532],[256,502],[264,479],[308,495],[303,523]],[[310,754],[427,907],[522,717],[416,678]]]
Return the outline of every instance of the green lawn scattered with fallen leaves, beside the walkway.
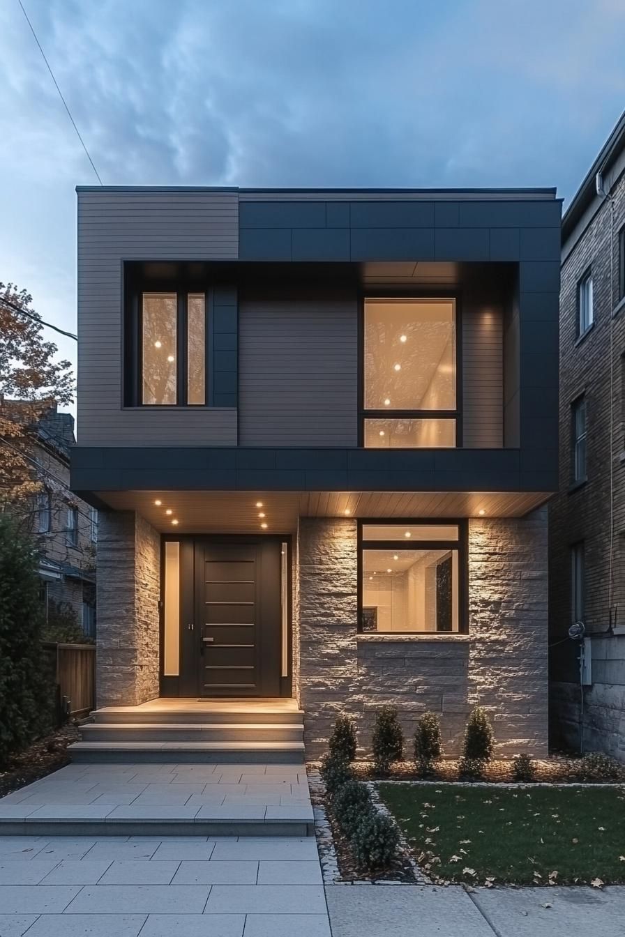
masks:
[[[380,783],[379,794],[442,881],[625,882],[623,788]]]

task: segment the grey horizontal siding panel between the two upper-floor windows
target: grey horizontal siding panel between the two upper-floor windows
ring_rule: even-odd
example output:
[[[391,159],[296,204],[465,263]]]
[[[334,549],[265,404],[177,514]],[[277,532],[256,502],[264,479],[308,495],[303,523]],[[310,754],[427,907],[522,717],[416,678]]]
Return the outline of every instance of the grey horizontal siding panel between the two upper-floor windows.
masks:
[[[243,301],[239,441],[244,446],[355,446],[356,298]]]

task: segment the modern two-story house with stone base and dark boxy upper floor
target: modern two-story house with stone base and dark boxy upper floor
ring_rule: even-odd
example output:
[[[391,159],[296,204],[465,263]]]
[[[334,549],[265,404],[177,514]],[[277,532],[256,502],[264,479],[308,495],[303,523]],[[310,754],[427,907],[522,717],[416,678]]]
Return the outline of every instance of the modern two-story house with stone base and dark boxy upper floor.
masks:
[[[83,745],[126,719],[162,756],[159,712],[283,700],[309,756],[341,712],[367,751],[383,704],[439,713],[449,754],[476,703],[500,754],[546,751],[560,213],[553,189],[79,188],[71,483],[109,707]]]

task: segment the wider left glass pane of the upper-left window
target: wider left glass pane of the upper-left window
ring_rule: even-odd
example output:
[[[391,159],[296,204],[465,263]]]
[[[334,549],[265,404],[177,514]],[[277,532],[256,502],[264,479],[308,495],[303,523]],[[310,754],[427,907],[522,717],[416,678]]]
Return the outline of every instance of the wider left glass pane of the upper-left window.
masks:
[[[175,293],[143,293],[142,403],[175,405],[177,378]]]

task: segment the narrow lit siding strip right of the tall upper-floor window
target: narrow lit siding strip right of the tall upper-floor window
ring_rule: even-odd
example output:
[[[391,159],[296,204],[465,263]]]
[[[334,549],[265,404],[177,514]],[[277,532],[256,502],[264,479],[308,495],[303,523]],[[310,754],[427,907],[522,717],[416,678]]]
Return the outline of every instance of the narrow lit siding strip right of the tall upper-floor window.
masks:
[[[462,310],[462,415],[466,449],[503,445],[503,315],[472,297]]]

